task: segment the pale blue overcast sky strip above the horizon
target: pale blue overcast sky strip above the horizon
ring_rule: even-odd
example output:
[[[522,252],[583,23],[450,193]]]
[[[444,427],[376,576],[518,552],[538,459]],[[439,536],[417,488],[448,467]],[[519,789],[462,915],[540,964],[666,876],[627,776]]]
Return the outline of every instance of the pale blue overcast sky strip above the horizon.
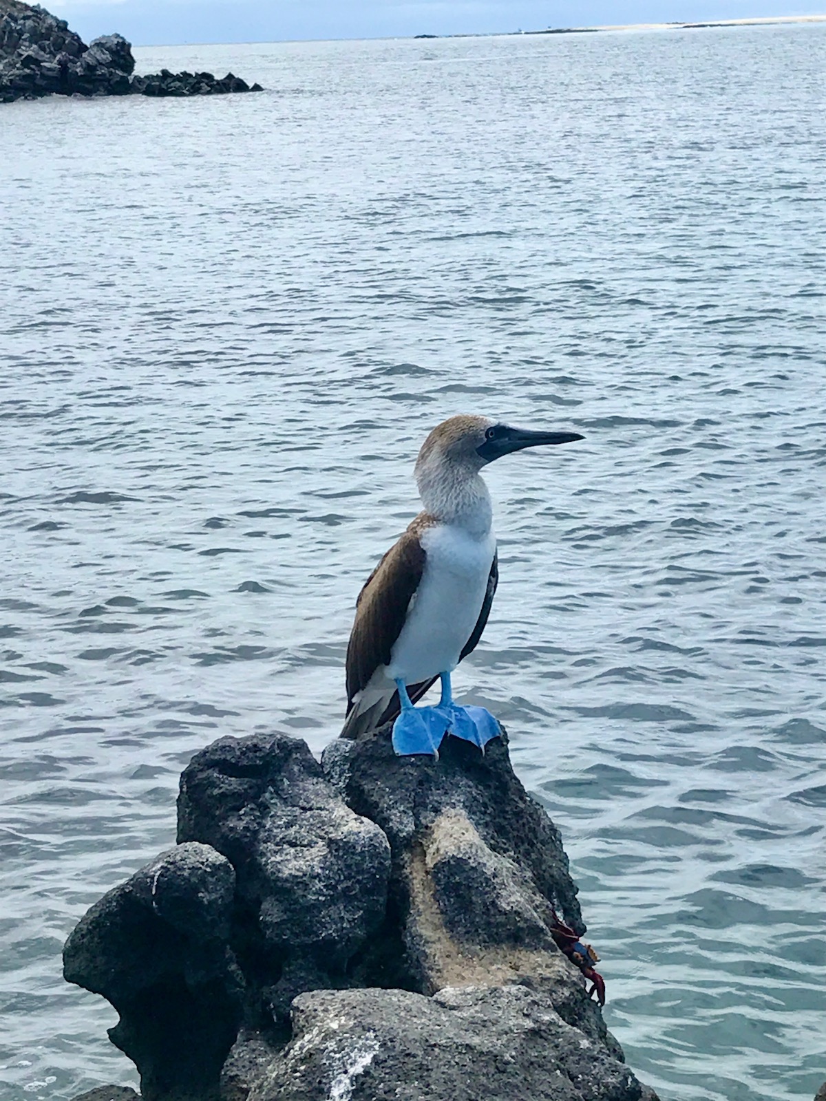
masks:
[[[87,42],[135,45],[482,34],[546,26],[826,12],[826,0],[42,0]]]

